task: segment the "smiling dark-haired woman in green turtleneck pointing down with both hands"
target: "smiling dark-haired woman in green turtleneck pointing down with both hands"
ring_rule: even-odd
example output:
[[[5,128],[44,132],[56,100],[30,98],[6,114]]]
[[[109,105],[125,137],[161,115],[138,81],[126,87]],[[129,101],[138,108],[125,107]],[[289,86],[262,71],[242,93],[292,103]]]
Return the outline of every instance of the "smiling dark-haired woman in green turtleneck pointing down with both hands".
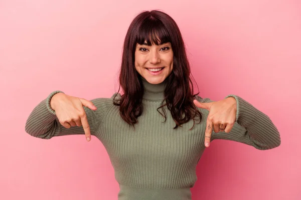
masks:
[[[228,139],[265,150],[280,145],[270,118],[237,95],[219,101],[193,94],[185,45],[176,22],[152,10],[125,36],[122,94],[84,98],[56,90],[29,115],[35,137],[85,134],[105,146],[120,185],[118,199],[191,199],[196,165],[209,143]],[[213,132],[214,131],[214,132]]]

